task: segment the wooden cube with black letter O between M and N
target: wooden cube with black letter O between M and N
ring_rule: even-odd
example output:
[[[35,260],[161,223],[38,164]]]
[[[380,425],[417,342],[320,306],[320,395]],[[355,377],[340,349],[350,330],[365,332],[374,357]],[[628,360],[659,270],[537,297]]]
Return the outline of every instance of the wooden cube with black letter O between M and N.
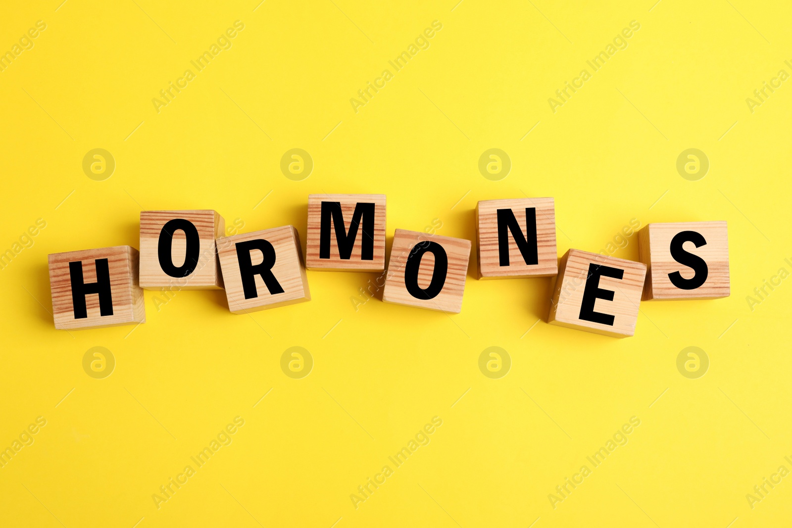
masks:
[[[396,230],[383,301],[459,313],[470,241]]]

